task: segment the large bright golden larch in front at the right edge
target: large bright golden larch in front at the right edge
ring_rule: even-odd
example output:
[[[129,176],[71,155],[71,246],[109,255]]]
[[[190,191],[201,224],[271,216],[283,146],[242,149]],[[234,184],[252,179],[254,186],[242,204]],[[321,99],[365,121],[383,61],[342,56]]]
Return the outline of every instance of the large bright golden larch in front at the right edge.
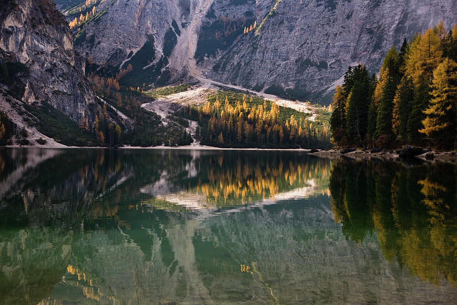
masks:
[[[457,117],[457,63],[446,58],[433,72],[432,99],[420,133],[450,147],[455,141]]]

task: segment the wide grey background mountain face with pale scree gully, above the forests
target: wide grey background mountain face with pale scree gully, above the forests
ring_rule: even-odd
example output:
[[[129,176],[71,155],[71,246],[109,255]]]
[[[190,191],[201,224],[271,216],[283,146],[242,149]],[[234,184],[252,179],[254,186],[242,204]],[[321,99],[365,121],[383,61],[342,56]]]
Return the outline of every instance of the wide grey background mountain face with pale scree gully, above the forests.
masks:
[[[69,0],[58,0],[66,4]],[[191,76],[290,98],[333,92],[348,66],[378,71],[391,45],[439,20],[453,0],[98,0],[75,46],[100,64],[161,83]],[[74,15],[69,15],[69,20]],[[79,12],[76,12],[79,16]],[[245,34],[244,28],[256,27]],[[184,70],[183,70],[184,68]],[[179,72],[179,73],[178,73]],[[179,76],[179,77],[176,77]]]

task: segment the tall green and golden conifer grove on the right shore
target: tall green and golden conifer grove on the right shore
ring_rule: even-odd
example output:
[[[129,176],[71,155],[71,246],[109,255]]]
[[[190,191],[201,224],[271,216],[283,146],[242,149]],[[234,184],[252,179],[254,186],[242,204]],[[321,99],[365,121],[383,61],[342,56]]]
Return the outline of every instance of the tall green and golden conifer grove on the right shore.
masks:
[[[457,24],[443,22],[393,46],[379,78],[363,65],[337,86],[331,116],[337,145],[409,143],[452,147],[457,136]]]

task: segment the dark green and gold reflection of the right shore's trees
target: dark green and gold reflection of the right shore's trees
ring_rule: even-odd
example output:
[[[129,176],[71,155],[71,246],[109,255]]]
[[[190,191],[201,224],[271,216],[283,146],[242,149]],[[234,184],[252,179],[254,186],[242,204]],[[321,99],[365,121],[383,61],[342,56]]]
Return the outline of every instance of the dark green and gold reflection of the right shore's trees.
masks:
[[[456,168],[341,161],[332,165],[335,220],[347,239],[376,232],[385,259],[439,285],[457,284]]]

